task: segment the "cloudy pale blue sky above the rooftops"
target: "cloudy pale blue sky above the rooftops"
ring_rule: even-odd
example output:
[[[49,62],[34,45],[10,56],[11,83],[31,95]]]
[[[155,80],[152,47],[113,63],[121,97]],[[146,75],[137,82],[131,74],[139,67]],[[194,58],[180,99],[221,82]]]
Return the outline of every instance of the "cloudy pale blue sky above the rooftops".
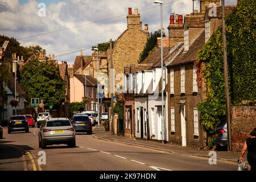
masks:
[[[46,15],[42,10],[46,6]],[[236,5],[237,0],[225,0]],[[117,39],[127,28],[128,7],[138,8],[149,31],[160,27],[160,6],[153,0],[0,0],[0,34],[16,38],[22,46],[40,45],[46,55],[72,64],[83,49]],[[195,9],[200,10],[199,1]],[[192,0],[163,0],[163,27],[168,33],[170,13],[189,14]],[[167,34],[168,35],[168,34]],[[2,45],[1,45],[2,46]]]

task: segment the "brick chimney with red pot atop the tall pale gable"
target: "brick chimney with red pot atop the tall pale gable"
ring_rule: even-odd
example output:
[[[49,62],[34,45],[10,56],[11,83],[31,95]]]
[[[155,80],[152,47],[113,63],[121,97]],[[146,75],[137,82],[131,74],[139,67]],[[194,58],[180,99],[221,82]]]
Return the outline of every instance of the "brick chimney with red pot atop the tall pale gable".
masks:
[[[127,15],[127,28],[139,28],[142,29],[141,16],[138,13],[138,9],[135,9],[135,13],[131,14],[131,9],[129,7]]]

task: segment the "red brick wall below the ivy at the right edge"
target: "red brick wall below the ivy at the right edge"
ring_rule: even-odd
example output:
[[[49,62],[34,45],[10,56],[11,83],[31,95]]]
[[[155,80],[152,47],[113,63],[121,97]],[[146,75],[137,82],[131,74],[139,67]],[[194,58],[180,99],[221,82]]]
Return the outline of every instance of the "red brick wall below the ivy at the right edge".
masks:
[[[241,151],[245,139],[256,127],[255,110],[255,106],[232,107],[231,130],[233,151]]]

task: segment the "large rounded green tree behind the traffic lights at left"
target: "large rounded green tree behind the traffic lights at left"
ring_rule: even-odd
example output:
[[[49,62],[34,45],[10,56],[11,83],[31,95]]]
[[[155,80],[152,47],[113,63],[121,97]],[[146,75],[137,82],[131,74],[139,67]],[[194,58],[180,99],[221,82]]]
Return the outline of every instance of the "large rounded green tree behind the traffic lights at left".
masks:
[[[27,100],[35,97],[43,100],[46,105],[55,105],[65,98],[65,83],[54,63],[31,60],[24,65],[20,78],[20,84],[27,93]]]

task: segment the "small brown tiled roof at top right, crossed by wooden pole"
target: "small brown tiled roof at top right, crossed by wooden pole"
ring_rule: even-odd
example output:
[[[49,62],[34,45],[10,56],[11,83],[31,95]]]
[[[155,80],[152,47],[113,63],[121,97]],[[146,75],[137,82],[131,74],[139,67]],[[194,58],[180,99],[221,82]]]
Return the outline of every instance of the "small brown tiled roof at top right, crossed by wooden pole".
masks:
[[[236,8],[237,6],[225,6],[225,16],[228,16],[232,13],[232,11]],[[207,7],[207,10],[205,12],[205,20],[211,19],[211,18],[222,18],[222,8],[221,6],[218,6],[216,8],[216,11],[214,11],[214,14],[210,14],[210,10],[212,7]],[[216,14],[215,14],[216,12]]]

